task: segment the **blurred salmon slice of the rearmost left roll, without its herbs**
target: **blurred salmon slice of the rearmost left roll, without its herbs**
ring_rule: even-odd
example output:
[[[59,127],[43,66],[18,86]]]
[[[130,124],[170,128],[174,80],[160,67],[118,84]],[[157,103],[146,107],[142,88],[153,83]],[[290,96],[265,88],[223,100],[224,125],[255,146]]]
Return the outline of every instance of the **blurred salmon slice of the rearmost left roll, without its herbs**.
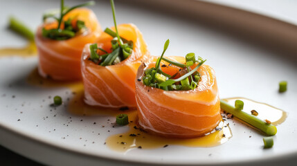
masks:
[[[63,20],[72,19],[71,24],[84,21],[87,27],[83,33],[76,33],[75,37],[64,40],[48,39],[42,36],[42,28],[57,28],[57,21],[43,24],[37,28],[35,42],[38,50],[38,71],[43,77],[53,80],[75,81],[82,80],[80,59],[86,44],[96,42],[102,29],[96,15],[87,8],[76,8],[66,14]],[[63,28],[63,27],[61,27]]]

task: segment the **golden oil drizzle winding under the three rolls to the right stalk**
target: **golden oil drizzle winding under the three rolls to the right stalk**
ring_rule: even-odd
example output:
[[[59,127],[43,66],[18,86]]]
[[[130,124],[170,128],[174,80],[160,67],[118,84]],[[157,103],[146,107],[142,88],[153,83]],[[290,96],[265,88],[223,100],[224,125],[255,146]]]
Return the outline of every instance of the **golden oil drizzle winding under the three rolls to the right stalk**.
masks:
[[[84,88],[81,82],[57,82],[48,78],[39,76],[37,68],[28,76],[28,83],[32,85],[42,86],[46,88],[66,87],[75,93],[73,98],[68,102],[67,111],[76,116],[111,116],[115,117],[120,113],[127,113],[129,116],[129,124],[123,128],[127,131],[109,136],[106,139],[106,145],[115,151],[127,152],[133,149],[156,149],[168,148],[170,145],[179,145],[184,147],[214,147],[222,145],[232,138],[232,131],[228,125],[228,120],[219,123],[217,130],[206,134],[206,136],[197,138],[164,138],[154,136],[147,133],[137,126],[137,111],[129,109],[120,111],[118,109],[107,109],[100,107],[92,107],[84,103]],[[259,118],[270,120],[272,124],[281,124],[287,118],[287,113],[268,104],[255,102],[246,98],[227,98],[224,99],[230,104],[234,104],[235,100],[244,102],[244,109],[247,113],[251,110],[257,111]],[[114,129],[118,128],[114,123]],[[122,129],[123,129],[122,128]]]

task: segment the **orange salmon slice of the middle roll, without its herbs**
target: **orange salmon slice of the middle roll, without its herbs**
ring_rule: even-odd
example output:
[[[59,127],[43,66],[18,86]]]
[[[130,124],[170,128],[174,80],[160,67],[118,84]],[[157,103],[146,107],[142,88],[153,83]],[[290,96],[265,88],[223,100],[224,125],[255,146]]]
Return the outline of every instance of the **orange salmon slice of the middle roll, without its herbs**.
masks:
[[[111,28],[114,30],[114,28]],[[135,77],[138,67],[150,53],[143,35],[134,24],[118,26],[120,37],[134,43],[133,52],[127,59],[111,66],[100,66],[90,59],[90,44],[82,52],[82,80],[84,82],[84,102],[92,106],[121,108],[136,107]],[[111,53],[113,37],[102,33],[98,47]]]

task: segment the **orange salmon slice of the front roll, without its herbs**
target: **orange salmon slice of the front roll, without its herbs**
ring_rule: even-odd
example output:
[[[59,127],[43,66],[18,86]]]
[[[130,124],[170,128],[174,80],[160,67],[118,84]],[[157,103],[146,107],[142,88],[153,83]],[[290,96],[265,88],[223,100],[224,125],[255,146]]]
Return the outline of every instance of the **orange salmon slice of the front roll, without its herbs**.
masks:
[[[184,57],[167,57],[184,63]],[[136,102],[139,126],[150,133],[171,138],[193,138],[213,131],[222,120],[215,71],[203,64],[197,71],[201,80],[194,90],[164,91],[143,84],[144,72],[156,59],[141,64],[136,75]],[[164,73],[173,75],[181,68],[161,62]],[[195,68],[196,65],[191,66]],[[180,77],[177,75],[175,77]]]

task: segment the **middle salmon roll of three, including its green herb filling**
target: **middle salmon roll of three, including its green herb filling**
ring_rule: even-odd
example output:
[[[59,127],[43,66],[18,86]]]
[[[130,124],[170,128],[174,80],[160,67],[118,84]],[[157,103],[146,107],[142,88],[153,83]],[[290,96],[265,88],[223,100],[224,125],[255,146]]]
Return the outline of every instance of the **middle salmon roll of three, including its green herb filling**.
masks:
[[[135,108],[136,71],[149,56],[141,31],[134,24],[116,26],[115,21],[115,27],[106,28],[96,44],[88,44],[82,52],[84,102]]]

